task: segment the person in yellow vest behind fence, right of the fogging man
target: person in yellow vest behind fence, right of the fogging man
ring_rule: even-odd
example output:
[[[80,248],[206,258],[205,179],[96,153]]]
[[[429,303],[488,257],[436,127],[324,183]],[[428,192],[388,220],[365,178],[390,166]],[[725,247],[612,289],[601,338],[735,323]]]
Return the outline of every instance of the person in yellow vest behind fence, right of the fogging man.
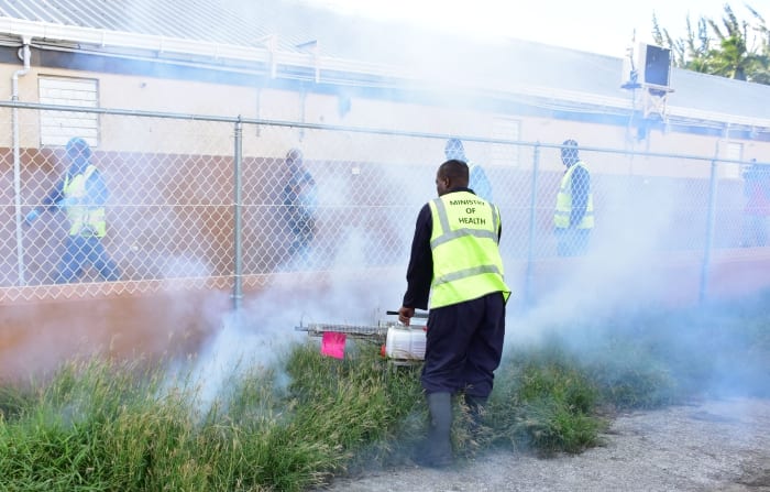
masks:
[[[553,227],[560,256],[585,254],[594,228],[594,203],[591,174],[578,156],[578,142],[565,140],[561,162],[566,170],[559,185]]]

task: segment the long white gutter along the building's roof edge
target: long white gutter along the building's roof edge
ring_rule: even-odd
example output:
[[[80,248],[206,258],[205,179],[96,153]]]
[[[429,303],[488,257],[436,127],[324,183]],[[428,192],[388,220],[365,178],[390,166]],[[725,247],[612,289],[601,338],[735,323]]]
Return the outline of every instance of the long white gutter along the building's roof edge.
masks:
[[[411,70],[396,66],[374,64],[365,62],[353,62],[329,56],[319,56],[308,53],[294,53],[278,51],[274,36],[262,40],[265,47],[252,47],[243,45],[232,45],[212,43],[198,40],[186,40],[179,37],[165,37],[151,34],[139,34],[127,31],[111,31],[95,28],[81,28],[76,25],[54,24],[50,22],[26,21],[0,15],[0,32],[25,39],[35,37],[51,42],[68,42],[76,44],[92,45],[99,47],[121,47],[146,50],[157,53],[172,53],[184,55],[196,55],[215,59],[227,58],[233,61],[258,62],[270,67],[270,75],[275,77],[278,65],[302,67],[316,74],[317,81],[321,70],[337,70],[349,74],[361,74],[378,76],[388,79],[400,79],[413,83],[430,81],[433,86],[444,86],[451,88],[465,88],[475,90],[497,90],[505,95],[531,96],[549,98],[559,101],[570,101],[612,108],[632,109],[634,105],[624,97],[608,97],[590,92],[556,89],[537,86],[517,86],[506,80],[491,80],[488,77],[477,80],[453,83],[448,85],[446,80],[419,78]],[[438,75],[437,75],[438,77]],[[738,117],[710,111],[701,111],[684,107],[669,107],[669,114],[676,114],[685,118],[712,120],[722,123],[748,124],[758,128],[770,127],[767,119]]]

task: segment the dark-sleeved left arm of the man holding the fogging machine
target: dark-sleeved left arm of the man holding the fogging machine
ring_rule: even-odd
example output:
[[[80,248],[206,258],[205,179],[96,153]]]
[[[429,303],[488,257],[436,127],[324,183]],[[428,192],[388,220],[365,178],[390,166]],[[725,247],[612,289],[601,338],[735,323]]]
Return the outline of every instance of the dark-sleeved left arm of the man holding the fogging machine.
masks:
[[[407,288],[404,307],[427,309],[430,284],[433,280],[433,254],[430,250],[430,236],[433,220],[430,206],[425,205],[417,216],[415,237],[411,241],[409,266],[406,270]]]

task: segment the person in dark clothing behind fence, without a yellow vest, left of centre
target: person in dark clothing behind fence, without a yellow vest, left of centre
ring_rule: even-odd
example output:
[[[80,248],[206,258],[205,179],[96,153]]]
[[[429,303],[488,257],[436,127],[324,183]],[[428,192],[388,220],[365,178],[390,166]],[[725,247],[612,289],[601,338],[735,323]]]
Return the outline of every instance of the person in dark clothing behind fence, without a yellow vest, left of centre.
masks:
[[[302,152],[290,149],[286,153],[288,179],[283,192],[286,225],[290,236],[289,258],[307,259],[316,237],[318,189],[312,174],[305,167]]]

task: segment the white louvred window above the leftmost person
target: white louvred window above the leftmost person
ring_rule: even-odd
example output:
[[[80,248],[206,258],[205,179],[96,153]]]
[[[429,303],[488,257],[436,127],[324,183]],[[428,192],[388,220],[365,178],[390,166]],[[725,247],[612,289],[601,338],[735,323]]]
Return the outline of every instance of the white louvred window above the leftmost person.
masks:
[[[38,78],[40,102],[44,105],[99,107],[98,80],[91,78]],[[41,145],[64,145],[73,136],[99,144],[99,114],[76,111],[41,111]]]

